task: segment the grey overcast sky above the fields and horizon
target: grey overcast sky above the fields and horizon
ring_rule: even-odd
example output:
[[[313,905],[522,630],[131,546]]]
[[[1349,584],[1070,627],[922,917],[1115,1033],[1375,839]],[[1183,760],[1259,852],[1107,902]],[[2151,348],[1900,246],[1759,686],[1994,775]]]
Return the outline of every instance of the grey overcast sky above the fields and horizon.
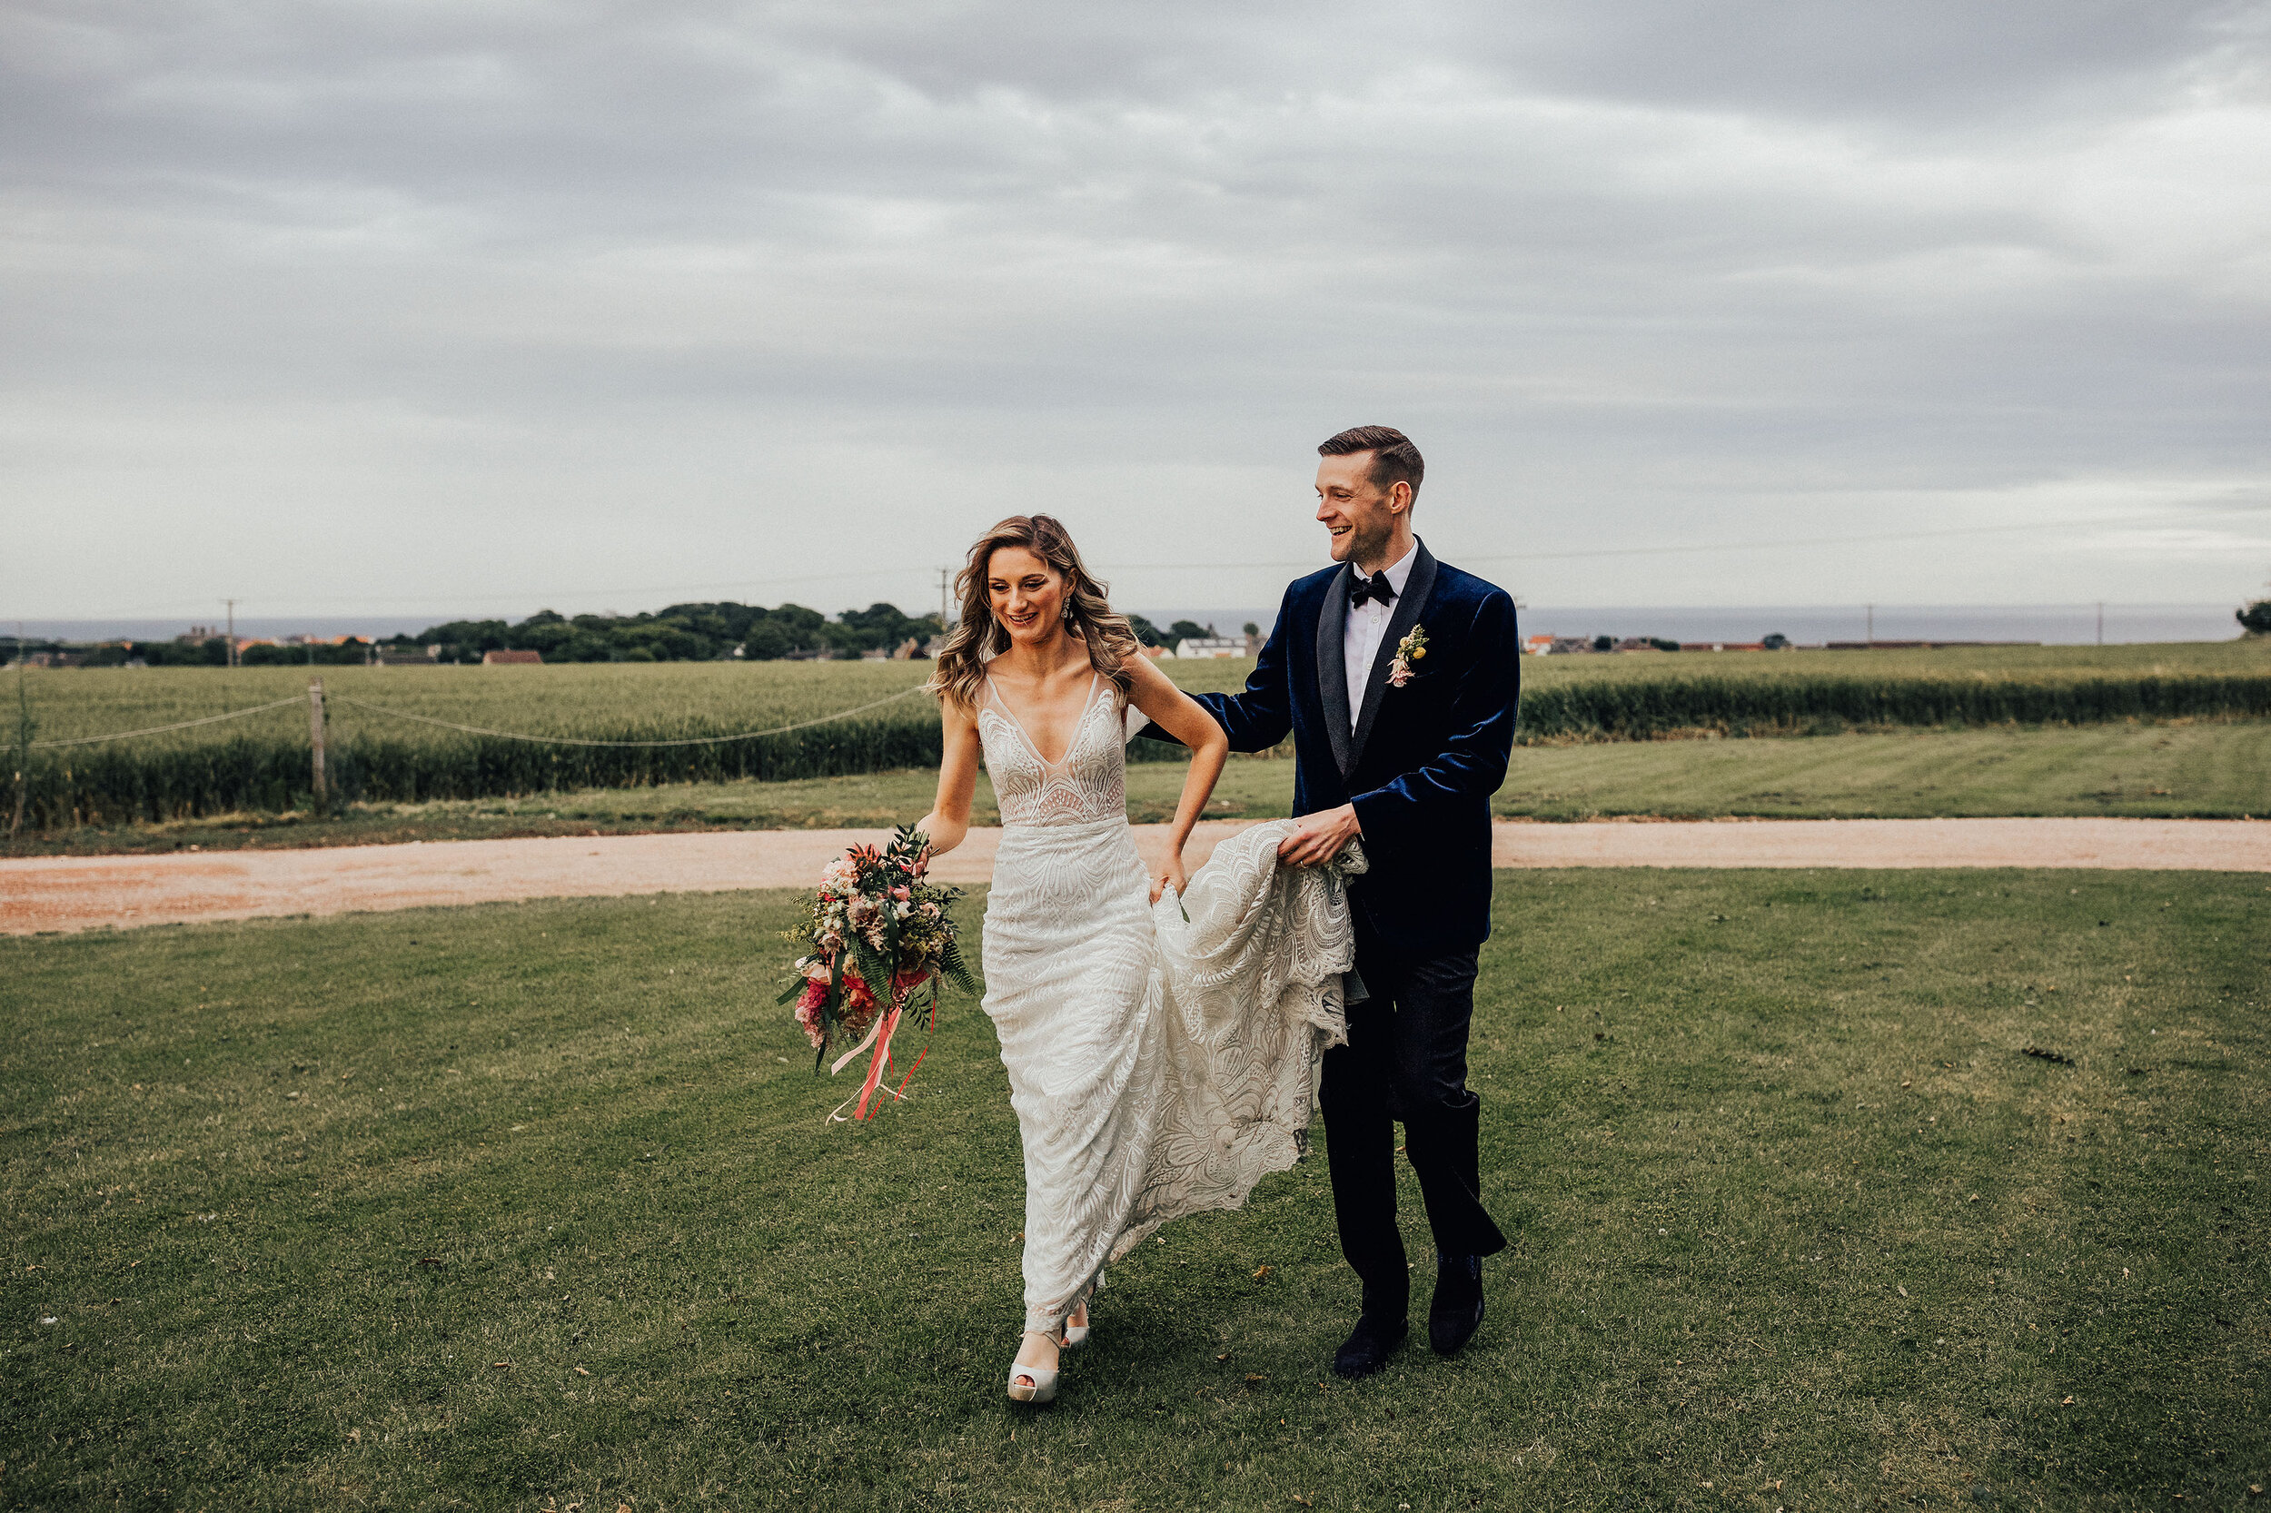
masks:
[[[2271,579],[2262,2],[9,0],[0,59],[0,616],[920,607],[1042,509],[1272,604],[1360,423],[1533,602]]]

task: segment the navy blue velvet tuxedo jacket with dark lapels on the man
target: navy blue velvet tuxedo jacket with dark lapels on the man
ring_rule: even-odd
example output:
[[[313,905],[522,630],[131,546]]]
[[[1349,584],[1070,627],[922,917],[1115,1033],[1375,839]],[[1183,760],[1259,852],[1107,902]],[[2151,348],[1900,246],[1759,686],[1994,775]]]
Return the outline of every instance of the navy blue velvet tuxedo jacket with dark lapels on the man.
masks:
[[[1245,693],[1195,697],[1233,752],[1265,752],[1292,734],[1292,811],[1356,804],[1372,870],[1349,900],[1383,938],[1431,954],[1490,936],[1490,795],[1515,745],[1522,638],[1503,588],[1435,561],[1424,543],[1415,552],[1354,734],[1347,566],[1285,588]],[[1388,666],[1413,625],[1426,632],[1426,657],[1417,677],[1392,688]],[[1163,736],[1158,727],[1145,734]]]

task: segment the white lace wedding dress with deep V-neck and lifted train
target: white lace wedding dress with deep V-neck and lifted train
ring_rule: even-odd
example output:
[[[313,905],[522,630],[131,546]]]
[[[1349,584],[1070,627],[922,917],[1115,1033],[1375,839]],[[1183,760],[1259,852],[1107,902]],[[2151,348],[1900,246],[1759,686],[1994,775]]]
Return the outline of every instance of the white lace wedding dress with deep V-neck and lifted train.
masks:
[[[1051,1331],[1158,1224],[1235,1209],[1301,1156],[1317,1056],[1347,1038],[1342,875],[1363,856],[1281,868],[1274,820],[1149,904],[1108,679],[1054,763],[990,682],[979,738],[1002,804],[986,1013],[1024,1140],[1024,1327]]]

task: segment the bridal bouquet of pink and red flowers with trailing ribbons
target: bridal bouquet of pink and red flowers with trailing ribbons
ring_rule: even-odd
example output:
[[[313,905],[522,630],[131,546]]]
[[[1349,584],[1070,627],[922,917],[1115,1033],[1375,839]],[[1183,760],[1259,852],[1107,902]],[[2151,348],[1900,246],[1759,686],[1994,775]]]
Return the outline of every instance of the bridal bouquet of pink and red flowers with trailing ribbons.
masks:
[[[881,1109],[874,1093],[890,1065],[890,1036],[915,997],[931,990],[927,1029],[936,1029],[940,979],[977,990],[954,943],[952,906],[963,891],[924,879],[924,843],[913,825],[902,825],[881,850],[854,845],[820,875],[820,893],[804,920],[783,931],[811,947],[797,956],[797,979],[781,1002],[795,1004],[797,1022],[813,1043],[813,1072],[827,1063],[838,1038],[858,1043],[836,1059],[831,1072],[874,1047],[852,1113],[856,1120],[872,1118],[870,1104]],[[929,1054],[924,1045],[915,1065]],[[915,1065],[906,1068],[897,1090],[886,1088],[890,1097],[906,1093]]]

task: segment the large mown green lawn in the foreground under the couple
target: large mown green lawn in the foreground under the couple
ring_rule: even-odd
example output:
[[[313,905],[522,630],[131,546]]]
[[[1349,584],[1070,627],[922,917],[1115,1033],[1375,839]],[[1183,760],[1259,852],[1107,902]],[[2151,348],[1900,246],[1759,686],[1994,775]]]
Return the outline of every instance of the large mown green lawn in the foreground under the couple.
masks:
[[[1115,1268],[1049,1411],[1002,1397],[1022,1188],[983,1015],[949,1004],[915,1102],[824,1125],[845,1086],[772,1006],[790,906],[0,941],[7,1504],[2271,1481],[2262,877],[1501,875],[1472,1075],[1517,1238],[1476,1345],[1324,1374],[1356,1288],[1319,1159]]]

